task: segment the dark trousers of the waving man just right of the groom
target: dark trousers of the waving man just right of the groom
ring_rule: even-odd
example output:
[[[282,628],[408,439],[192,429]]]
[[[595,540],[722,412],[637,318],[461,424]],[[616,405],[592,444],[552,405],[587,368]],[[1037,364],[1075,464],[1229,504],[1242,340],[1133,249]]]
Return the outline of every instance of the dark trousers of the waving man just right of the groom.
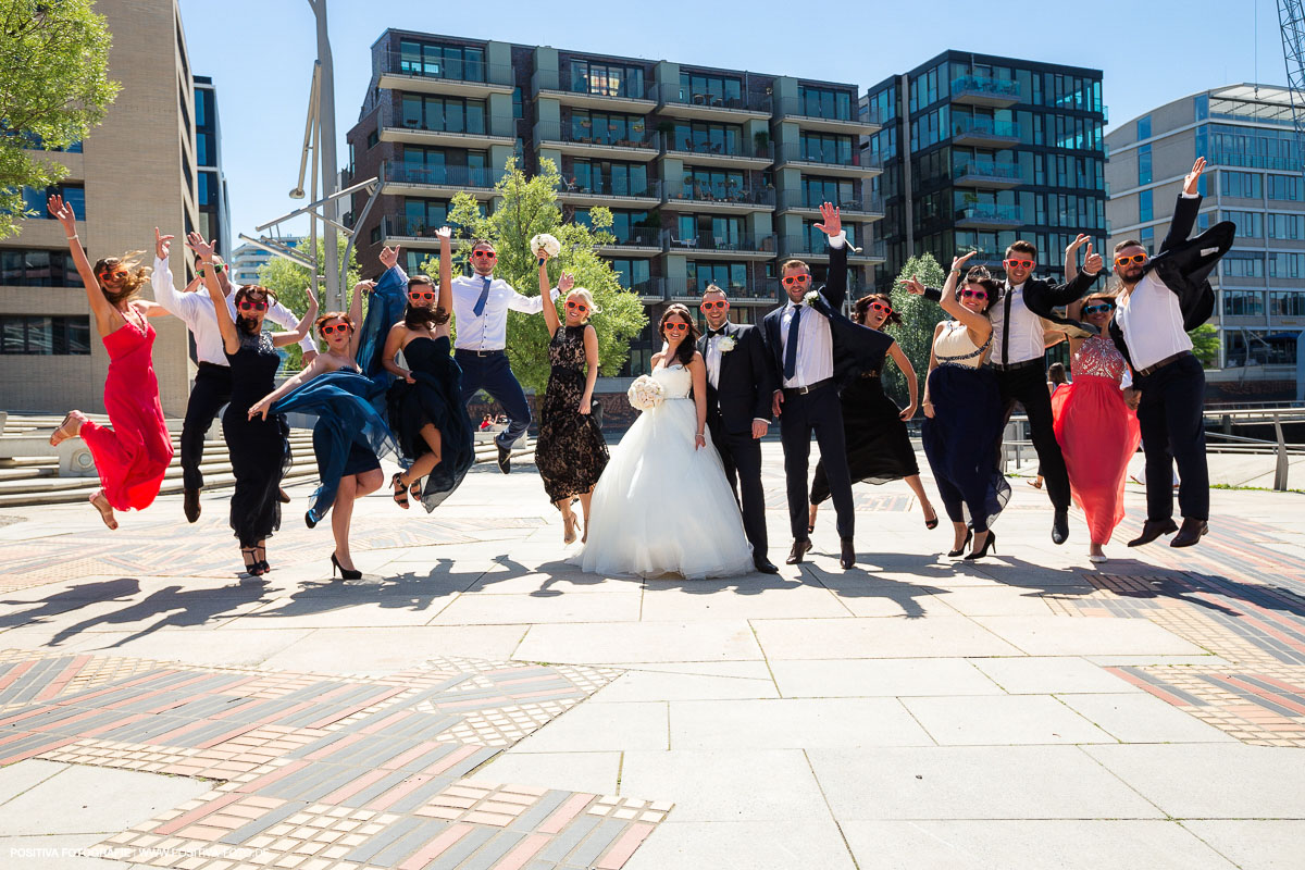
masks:
[[[784,477],[788,490],[788,522],[793,540],[810,535],[806,501],[806,468],[810,463],[812,433],[820,445],[820,458],[829,477],[830,498],[838,514],[838,536],[848,539],[855,527],[852,510],[852,475],[847,468],[847,437],[843,434],[843,403],[833,383],[812,393],[784,390],[783,413],[779,416],[779,438],[784,445]]]

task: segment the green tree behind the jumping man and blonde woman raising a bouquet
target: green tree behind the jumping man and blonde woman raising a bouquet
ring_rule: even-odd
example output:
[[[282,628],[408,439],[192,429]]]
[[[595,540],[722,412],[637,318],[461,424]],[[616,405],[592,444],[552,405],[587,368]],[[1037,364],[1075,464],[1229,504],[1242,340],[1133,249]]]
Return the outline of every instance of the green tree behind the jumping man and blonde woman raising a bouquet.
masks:
[[[485,215],[475,197],[459,193],[453,198],[449,224],[458,228],[459,237],[492,241],[499,252],[495,275],[527,296],[539,292],[539,267],[530,253],[530,239],[540,232],[556,236],[561,253],[549,261],[548,275],[556,286],[561,273],[569,271],[577,287],[594,293],[594,303],[600,309],[591,318],[598,331],[599,373],[612,376],[629,356],[630,339],[647,323],[647,316],[639,297],[621,287],[612,265],[598,254],[598,247],[613,239],[609,232],[612,213],[590,209],[591,227],[562,223],[557,207],[560,185],[561,176],[552,160],[542,159],[539,175],[531,177],[509,159],[496,188],[499,205],[493,214]],[[470,253],[467,245],[454,248],[454,274],[463,269]],[[422,267],[428,275],[438,274],[433,258]],[[557,304],[561,310],[561,300]],[[508,359],[523,386],[543,391],[548,383],[548,327],[543,317],[508,313]]]

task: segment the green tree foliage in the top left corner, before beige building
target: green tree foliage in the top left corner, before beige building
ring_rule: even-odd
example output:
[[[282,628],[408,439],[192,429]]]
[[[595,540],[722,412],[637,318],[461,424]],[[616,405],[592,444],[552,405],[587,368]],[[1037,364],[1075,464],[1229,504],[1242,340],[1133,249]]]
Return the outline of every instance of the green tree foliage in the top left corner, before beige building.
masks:
[[[67,167],[33,149],[64,149],[104,120],[112,37],[93,0],[0,0],[0,239],[33,214],[22,189],[43,190]],[[85,218],[85,215],[77,215]]]

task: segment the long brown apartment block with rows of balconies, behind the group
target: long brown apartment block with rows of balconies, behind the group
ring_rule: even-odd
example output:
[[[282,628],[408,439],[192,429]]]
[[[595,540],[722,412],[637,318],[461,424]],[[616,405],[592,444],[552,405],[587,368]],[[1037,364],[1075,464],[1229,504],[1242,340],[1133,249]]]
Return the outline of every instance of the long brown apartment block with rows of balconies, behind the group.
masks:
[[[454,193],[493,209],[505,160],[519,155],[532,172],[548,158],[561,171],[564,219],[612,210],[603,254],[651,321],[625,370],[639,374],[660,346],[666,304],[696,303],[714,282],[736,320],[757,322],[779,299],[784,258],[810,261],[822,278],[827,256],[812,226],[822,201],[843,207],[864,247],[851,282],[867,286],[880,261],[865,241],[880,218],[867,193],[878,170],[857,142],[878,125],[856,99],[847,83],[386,30],[348,132],[351,177],[385,183],[356,227],[359,261],[401,244],[416,266],[437,249]]]

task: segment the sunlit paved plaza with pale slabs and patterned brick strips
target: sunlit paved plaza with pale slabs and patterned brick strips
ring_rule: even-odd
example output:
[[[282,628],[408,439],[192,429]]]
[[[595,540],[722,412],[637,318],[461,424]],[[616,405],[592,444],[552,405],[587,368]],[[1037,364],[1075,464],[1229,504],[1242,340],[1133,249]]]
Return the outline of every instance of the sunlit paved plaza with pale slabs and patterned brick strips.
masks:
[[[529,463],[364,500],[354,582],[309,485],[262,578],[228,492],[3,510],[0,867],[1302,866],[1305,496],[1129,550],[1130,485],[1092,566],[1013,485],[980,563],[857,485],[855,570],[826,510],[806,563],[709,582],[569,566]]]

